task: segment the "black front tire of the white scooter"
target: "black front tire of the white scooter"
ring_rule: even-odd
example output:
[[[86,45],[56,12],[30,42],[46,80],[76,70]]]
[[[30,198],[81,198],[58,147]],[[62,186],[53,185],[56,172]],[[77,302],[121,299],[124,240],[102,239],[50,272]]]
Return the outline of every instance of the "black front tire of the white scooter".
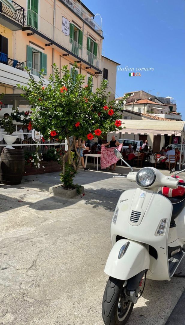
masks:
[[[102,317],[106,325],[124,325],[132,313],[134,304],[123,302],[124,282],[111,277],[107,282],[102,302]]]

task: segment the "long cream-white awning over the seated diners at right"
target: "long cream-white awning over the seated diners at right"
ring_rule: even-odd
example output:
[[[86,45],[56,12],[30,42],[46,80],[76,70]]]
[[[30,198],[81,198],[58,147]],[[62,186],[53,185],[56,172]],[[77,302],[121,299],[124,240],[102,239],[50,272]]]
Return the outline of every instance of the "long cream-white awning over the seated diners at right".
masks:
[[[184,133],[184,121],[121,120],[121,122],[125,128],[116,131],[117,134],[159,134],[161,136],[174,134],[175,136],[181,136],[182,132]]]

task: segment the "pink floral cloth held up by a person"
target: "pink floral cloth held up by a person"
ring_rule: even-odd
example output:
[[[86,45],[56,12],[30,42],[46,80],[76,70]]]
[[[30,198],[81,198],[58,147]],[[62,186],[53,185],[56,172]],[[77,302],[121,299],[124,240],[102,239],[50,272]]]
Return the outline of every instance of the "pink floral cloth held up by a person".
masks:
[[[115,148],[121,151],[122,144]],[[101,169],[105,169],[119,160],[114,153],[115,148],[101,146]]]

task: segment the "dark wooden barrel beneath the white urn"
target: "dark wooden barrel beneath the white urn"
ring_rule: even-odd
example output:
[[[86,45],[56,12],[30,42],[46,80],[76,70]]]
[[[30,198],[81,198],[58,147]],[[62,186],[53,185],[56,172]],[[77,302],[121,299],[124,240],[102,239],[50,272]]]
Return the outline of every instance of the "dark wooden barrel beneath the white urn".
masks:
[[[24,173],[24,150],[3,148],[0,156],[0,183],[17,185]]]

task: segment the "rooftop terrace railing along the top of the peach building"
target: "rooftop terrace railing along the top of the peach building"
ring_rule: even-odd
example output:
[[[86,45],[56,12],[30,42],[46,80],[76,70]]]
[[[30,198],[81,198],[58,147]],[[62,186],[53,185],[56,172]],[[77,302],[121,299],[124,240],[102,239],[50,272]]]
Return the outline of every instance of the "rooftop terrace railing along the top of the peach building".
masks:
[[[103,31],[101,27],[92,19],[88,13],[87,10],[83,8],[83,6],[80,6],[80,4],[74,0],[62,0],[65,5],[67,5],[71,10],[75,12],[78,16],[80,16],[82,19],[85,20],[85,22],[92,27],[96,32],[98,32],[100,35],[103,34]]]

